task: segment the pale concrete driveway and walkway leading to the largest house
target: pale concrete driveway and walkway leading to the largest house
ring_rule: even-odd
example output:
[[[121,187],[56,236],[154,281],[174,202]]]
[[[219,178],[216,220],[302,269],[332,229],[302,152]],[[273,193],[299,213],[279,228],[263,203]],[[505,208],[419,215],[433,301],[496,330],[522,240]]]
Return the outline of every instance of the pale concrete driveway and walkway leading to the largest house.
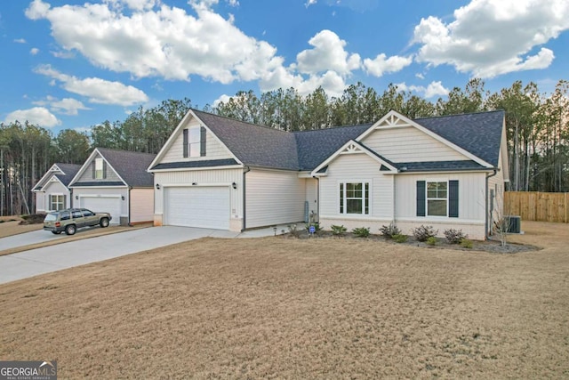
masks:
[[[182,241],[205,237],[226,239],[260,238],[273,236],[275,233],[280,234],[282,230],[287,231],[288,229],[286,226],[278,226],[276,231],[273,228],[268,228],[244,232],[230,232],[227,230],[166,226],[127,230],[96,238],[62,243],[51,247],[36,248],[18,254],[0,256],[0,284],[18,279],[27,279],[52,271],[60,271],[78,265],[148,251],[157,247],[170,246]],[[22,235],[32,234],[30,235],[32,237],[30,239],[34,239],[36,232],[49,234],[46,231],[33,231]],[[52,236],[49,236],[49,238],[52,238]],[[0,245],[3,247],[4,239],[0,239]],[[26,241],[26,244],[30,244],[26,237],[22,238],[20,236],[20,240]]]

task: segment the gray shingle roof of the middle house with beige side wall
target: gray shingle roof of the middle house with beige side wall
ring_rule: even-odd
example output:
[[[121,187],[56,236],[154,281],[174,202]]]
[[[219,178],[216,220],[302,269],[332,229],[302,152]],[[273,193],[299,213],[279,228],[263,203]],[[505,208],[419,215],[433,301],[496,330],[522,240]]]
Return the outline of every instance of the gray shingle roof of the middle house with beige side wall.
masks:
[[[116,173],[132,187],[153,187],[154,179],[146,169],[156,158],[155,154],[133,152],[128,150],[111,150],[98,148],[100,154],[108,161]],[[78,185],[78,183],[76,183]],[[104,186],[104,183],[100,183]]]

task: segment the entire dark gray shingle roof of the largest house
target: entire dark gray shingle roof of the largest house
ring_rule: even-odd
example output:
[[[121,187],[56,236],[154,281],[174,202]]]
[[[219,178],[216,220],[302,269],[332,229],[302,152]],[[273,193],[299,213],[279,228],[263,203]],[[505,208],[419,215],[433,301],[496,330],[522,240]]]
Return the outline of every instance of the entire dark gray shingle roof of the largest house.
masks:
[[[313,170],[342,145],[355,140],[372,125],[340,126],[289,133],[196,109],[192,111],[244,165],[301,171]],[[503,117],[504,111],[499,110],[426,117],[414,121],[489,164],[498,166]],[[159,164],[160,167],[154,168],[193,167],[183,166],[183,163],[164,165],[166,164]],[[404,166],[400,163],[393,165]],[[473,161],[448,161],[439,162],[437,165],[433,162],[405,163],[405,166],[409,171],[435,170],[435,166],[440,170],[469,170],[482,167]]]

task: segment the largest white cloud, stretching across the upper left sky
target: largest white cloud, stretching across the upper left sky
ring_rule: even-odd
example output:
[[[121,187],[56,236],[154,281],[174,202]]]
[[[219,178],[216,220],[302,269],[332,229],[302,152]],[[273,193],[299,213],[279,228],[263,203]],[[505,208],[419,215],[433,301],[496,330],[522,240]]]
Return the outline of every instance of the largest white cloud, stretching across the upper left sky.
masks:
[[[134,77],[189,80],[198,75],[223,84],[254,80],[274,69],[276,48],[246,36],[210,9],[218,0],[190,3],[196,16],[151,1],[108,0],[103,4],[50,7],[34,0],[26,15],[51,22],[52,36],[64,50],[83,54],[92,64]],[[136,12],[123,12],[128,4]],[[236,2],[230,2],[236,4]]]

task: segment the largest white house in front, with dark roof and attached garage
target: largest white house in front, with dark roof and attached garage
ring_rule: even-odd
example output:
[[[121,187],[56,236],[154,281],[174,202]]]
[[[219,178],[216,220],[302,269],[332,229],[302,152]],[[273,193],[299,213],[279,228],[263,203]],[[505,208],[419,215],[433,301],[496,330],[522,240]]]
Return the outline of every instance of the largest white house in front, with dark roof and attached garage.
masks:
[[[155,225],[244,230],[395,222],[485,239],[501,212],[503,111],[289,133],[190,109],[153,160]]]

